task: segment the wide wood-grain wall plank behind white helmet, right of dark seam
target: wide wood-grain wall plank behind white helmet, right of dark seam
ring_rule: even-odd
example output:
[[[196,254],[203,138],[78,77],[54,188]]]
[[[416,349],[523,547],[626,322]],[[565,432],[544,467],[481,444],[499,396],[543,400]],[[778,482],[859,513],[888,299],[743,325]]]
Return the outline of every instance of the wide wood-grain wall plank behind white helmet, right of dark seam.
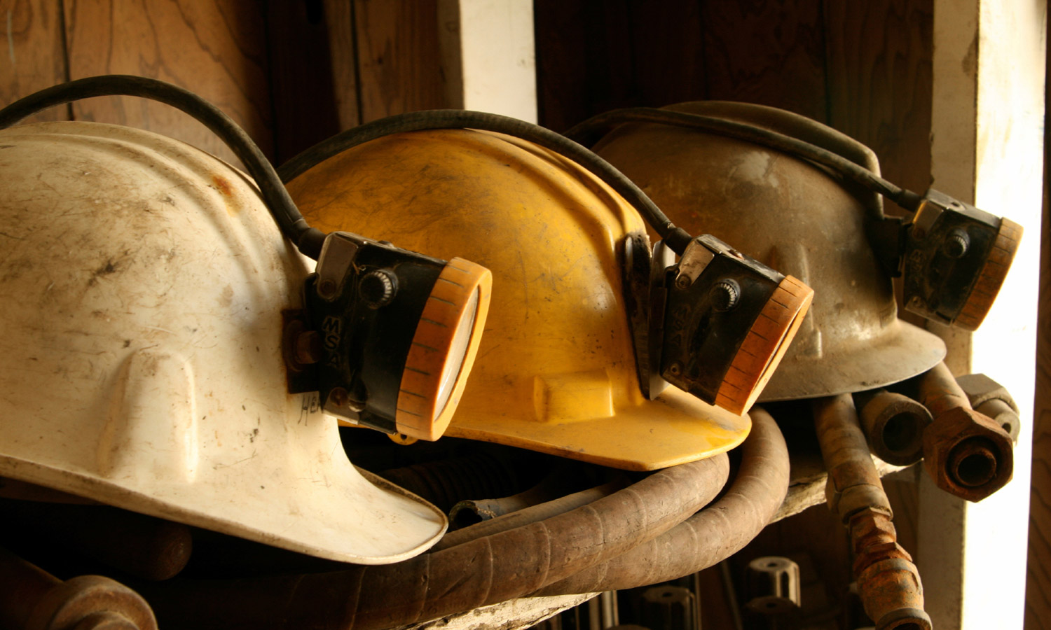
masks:
[[[71,79],[151,77],[192,90],[273,154],[263,3],[253,0],[65,0]],[[74,104],[78,120],[177,138],[234,164],[213,133],[167,105],[101,98]]]

